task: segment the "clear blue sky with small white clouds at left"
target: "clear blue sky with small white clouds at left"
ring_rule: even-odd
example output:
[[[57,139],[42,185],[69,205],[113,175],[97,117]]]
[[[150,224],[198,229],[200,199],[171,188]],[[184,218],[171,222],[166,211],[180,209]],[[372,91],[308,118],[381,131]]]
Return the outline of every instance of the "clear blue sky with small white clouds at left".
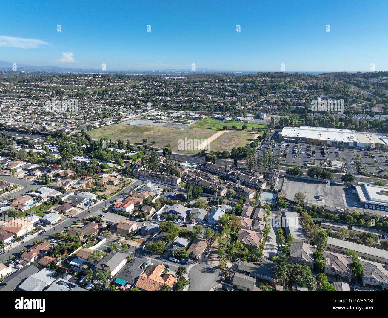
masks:
[[[286,71],[324,72],[370,71],[374,63],[388,70],[386,1],[3,1],[1,16],[0,60],[11,63],[242,71],[281,71],[284,63]]]

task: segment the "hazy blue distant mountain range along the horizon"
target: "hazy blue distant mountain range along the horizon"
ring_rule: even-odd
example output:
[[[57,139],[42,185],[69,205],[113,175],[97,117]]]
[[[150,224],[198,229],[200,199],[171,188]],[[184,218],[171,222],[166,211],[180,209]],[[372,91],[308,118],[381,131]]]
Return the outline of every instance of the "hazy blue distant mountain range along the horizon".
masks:
[[[0,71],[11,71],[12,70],[13,63],[5,62],[0,60]],[[64,73],[102,73],[100,69],[97,68],[70,68],[70,67],[61,67],[61,66],[33,66],[33,65],[27,65],[27,64],[19,64],[16,63],[17,71],[24,71],[24,72],[64,72]],[[230,74],[236,74],[236,75],[243,75],[243,74],[253,74],[258,73],[260,71],[233,71],[233,70],[217,70],[217,69],[211,69],[211,68],[197,68],[194,72],[190,68],[185,69],[162,69],[162,70],[109,70],[107,73],[141,73],[141,74],[198,74],[198,73],[230,73]],[[277,72],[277,71],[274,71]],[[286,72],[286,73],[293,73],[293,72]],[[322,74],[324,72],[303,72],[300,71],[300,73],[307,73],[307,74]],[[329,73],[329,72],[327,72]]]

